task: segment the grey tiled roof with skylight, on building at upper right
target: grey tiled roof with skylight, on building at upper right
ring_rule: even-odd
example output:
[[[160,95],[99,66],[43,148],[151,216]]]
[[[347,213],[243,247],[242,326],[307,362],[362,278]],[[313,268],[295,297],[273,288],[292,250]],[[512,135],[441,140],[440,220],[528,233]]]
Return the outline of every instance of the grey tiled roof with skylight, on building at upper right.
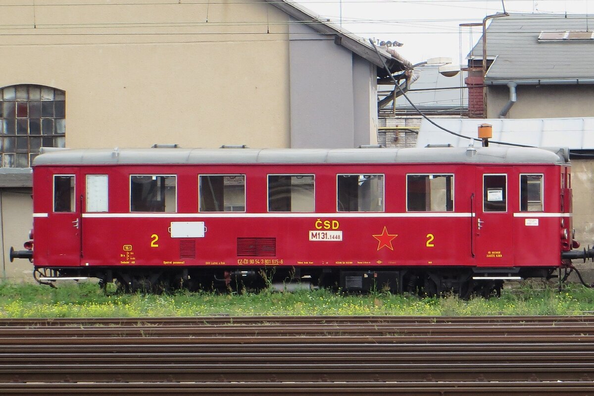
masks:
[[[495,61],[485,80],[594,78],[594,40],[538,42],[541,31],[586,31],[594,17],[560,14],[510,14],[491,20],[487,58]],[[482,38],[469,54],[482,59]]]

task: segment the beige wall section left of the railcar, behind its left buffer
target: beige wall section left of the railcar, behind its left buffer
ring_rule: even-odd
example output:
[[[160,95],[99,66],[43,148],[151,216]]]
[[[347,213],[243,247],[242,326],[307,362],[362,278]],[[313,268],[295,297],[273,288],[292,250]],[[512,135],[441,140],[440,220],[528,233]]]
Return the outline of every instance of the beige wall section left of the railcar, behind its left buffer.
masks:
[[[33,228],[33,199],[31,189],[0,189],[0,233],[2,235],[1,277],[18,280],[33,281],[33,264],[29,260],[15,259],[10,262],[8,252],[10,247],[23,250],[23,243],[27,241],[29,230]]]

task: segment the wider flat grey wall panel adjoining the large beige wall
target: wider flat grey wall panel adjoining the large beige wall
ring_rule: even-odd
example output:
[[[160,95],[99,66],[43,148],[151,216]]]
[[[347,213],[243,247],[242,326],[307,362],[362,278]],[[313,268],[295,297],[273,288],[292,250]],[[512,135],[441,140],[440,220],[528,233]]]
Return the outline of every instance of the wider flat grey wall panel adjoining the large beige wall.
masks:
[[[353,54],[334,37],[291,25],[290,147],[353,147]]]

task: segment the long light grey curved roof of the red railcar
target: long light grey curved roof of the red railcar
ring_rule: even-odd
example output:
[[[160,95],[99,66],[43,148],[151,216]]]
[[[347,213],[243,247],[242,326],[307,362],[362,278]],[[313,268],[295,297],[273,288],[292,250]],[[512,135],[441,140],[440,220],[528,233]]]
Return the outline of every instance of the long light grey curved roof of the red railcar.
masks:
[[[87,148],[48,150],[37,156],[33,165],[567,162],[567,150],[533,147]]]

